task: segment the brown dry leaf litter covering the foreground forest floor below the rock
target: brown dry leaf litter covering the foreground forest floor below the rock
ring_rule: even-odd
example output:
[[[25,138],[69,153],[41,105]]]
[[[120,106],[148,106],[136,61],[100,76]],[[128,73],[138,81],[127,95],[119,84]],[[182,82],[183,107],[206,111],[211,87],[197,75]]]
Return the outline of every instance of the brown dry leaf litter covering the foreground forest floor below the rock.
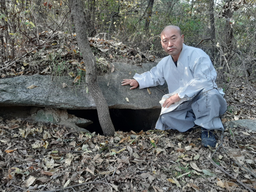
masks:
[[[0,118],[0,190],[248,191],[238,180],[256,190],[256,132],[226,127],[216,136],[217,150],[201,146],[200,129],[105,137]]]

